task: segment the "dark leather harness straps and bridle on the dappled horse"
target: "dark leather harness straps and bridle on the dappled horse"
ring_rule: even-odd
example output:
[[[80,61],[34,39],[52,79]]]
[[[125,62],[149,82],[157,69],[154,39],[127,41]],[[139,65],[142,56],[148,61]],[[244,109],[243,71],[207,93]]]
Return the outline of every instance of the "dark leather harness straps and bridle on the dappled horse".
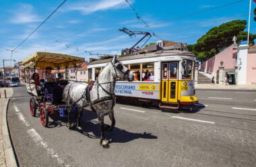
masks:
[[[116,68],[115,68],[115,64],[113,64],[113,62],[111,62],[111,64],[112,64],[112,66],[113,66],[114,69],[115,69],[115,74],[117,75],[117,70],[116,70]],[[119,64],[118,64],[118,65],[117,65],[117,68],[122,72],[123,66],[119,66]],[[124,74],[123,78],[127,77],[127,74],[129,74],[129,72],[130,72],[129,69],[126,70],[125,72],[123,72],[123,74]],[[117,75],[117,78],[119,78],[118,75]],[[95,82],[96,82],[96,86],[97,86],[97,99],[95,99],[94,101],[91,101],[91,99],[90,99],[90,91],[92,91],[92,87],[94,87]],[[111,106],[111,110],[112,110],[112,109],[114,108],[114,106],[115,106],[115,103],[114,103],[115,100],[116,100],[115,92],[114,92],[114,93],[109,93],[108,91],[106,91],[106,89],[104,89],[104,87],[102,87],[102,85],[110,84],[110,83],[114,83],[114,81],[112,81],[112,82],[99,83],[98,80],[96,80],[96,81],[91,82],[89,85],[86,86],[86,89],[85,89],[84,94],[82,95],[82,97],[80,97],[77,101],[75,101],[74,105],[75,105],[78,101],[83,100],[83,102],[86,102],[86,105],[84,105],[83,107],[88,107],[88,106],[90,106],[90,108],[92,109],[92,111],[96,111],[96,110],[94,109],[94,107],[93,107],[94,105],[96,105],[96,104],[98,104],[98,103],[102,103],[102,102],[104,102],[104,101],[111,101],[111,100],[112,100],[112,101],[113,101],[112,106]],[[73,84],[72,84],[72,85],[73,85]],[[99,89],[100,87],[101,87],[101,89],[102,89],[106,94],[108,94],[109,96],[100,97],[99,91],[98,91],[98,89]],[[69,90],[70,90],[70,88],[71,88],[71,85],[70,85],[70,87],[69,87]],[[67,95],[69,95],[69,91],[68,91]]]

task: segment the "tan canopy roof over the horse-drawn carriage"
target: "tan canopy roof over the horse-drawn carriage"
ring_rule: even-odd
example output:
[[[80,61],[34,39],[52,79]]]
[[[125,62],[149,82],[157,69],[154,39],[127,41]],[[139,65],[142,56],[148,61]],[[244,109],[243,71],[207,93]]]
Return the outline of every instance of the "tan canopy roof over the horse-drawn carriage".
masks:
[[[84,62],[84,58],[79,56],[73,56],[69,54],[60,54],[52,52],[35,52],[32,56],[26,58],[22,61],[23,66],[34,66],[38,68],[46,68],[47,66],[56,68],[56,67],[65,67],[73,66]]]

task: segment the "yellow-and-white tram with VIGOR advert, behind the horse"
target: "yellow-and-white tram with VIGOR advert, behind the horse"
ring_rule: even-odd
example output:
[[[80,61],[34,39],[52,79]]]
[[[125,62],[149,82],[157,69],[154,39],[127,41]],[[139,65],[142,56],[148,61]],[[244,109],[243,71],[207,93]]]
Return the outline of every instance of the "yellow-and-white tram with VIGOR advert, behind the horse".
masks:
[[[90,61],[89,79],[96,80],[110,57]],[[133,82],[117,81],[119,101],[154,103],[163,109],[191,107],[195,97],[195,55],[185,50],[154,50],[118,58],[135,75]]]

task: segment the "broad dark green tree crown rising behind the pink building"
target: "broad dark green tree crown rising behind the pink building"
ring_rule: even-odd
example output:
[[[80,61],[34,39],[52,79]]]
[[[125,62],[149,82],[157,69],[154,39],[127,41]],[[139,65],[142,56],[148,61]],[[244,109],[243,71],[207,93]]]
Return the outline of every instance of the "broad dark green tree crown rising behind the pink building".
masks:
[[[246,25],[247,21],[245,20],[234,20],[223,23],[222,25],[213,27],[199,38],[196,44],[189,45],[187,48],[197,56],[198,60],[204,62],[232,45],[233,36],[236,36],[236,42],[238,44],[247,40],[247,32],[244,31]],[[254,45],[253,40],[255,38],[255,34],[250,34],[249,43]]]

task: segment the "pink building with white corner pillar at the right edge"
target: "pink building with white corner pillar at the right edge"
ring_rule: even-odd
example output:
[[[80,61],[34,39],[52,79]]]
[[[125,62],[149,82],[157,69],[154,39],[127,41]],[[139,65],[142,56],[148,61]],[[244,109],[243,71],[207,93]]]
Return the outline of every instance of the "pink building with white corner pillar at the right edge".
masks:
[[[232,44],[203,62],[199,70],[215,76],[217,83],[256,84],[256,46]]]

